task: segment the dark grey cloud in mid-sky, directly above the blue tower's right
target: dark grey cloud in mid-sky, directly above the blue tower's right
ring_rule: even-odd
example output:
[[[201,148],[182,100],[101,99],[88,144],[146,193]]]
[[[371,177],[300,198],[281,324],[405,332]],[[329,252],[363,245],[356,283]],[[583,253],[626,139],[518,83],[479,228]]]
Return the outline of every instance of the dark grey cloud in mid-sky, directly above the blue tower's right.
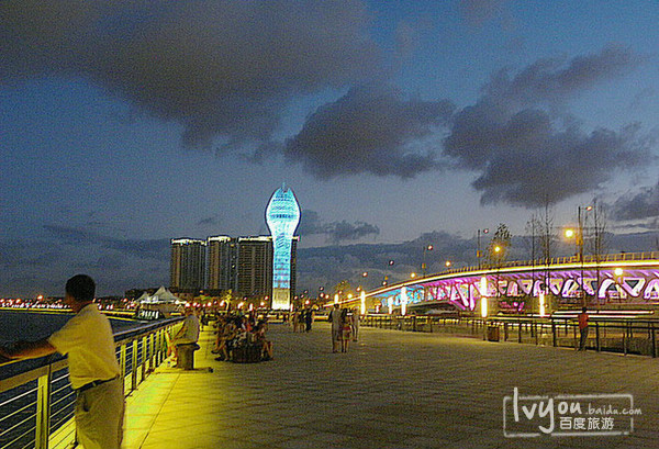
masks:
[[[448,101],[405,99],[382,86],[350,89],[311,114],[284,155],[321,179],[369,172],[401,178],[439,167],[436,132],[450,119]]]

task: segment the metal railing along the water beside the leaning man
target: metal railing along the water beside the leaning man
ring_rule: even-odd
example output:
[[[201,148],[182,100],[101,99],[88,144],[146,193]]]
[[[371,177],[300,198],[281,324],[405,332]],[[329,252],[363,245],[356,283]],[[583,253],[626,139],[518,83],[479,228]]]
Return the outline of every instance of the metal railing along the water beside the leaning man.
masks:
[[[114,334],[116,357],[125,394],[133,392],[148,373],[167,358],[166,332],[182,318],[172,318]],[[47,449],[53,435],[66,446],[76,440],[76,394],[63,357],[9,362],[15,374],[0,380],[0,449]],[[26,364],[25,368],[21,364]],[[38,364],[36,368],[34,364]]]

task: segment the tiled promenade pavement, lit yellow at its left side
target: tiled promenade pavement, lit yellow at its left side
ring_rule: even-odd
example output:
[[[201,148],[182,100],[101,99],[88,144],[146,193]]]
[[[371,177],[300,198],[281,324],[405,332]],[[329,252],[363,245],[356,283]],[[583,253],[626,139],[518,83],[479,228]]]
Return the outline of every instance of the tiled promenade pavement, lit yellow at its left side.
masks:
[[[270,325],[275,359],[159,368],[127,405],[125,448],[657,448],[659,360],[361,327],[332,353],[310,334]],[[502,403],[521,394],[633,394],[627,436],[505,438]]]

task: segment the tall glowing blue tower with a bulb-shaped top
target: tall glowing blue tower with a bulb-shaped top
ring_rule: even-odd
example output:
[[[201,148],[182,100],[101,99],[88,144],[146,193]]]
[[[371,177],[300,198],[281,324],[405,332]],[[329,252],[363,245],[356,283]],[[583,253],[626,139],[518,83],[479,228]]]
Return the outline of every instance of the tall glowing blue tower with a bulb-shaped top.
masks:
[[[300,223],[300,206],[293,191],[277,189],[266,209],[266,223],[272,235],[272,308],[291,305],[291,246]]]

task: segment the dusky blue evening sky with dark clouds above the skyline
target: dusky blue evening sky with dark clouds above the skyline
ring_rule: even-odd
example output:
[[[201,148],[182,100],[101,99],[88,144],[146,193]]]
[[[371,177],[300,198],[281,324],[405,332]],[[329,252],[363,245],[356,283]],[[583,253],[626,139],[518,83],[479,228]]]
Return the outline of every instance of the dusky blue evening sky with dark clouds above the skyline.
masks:
[[[167,284],[169,238],[265,234],[282,182],[315,261],[520,235],[547,201],[659,231],[658,23],[640,0],[2,1],[0,295]]]

